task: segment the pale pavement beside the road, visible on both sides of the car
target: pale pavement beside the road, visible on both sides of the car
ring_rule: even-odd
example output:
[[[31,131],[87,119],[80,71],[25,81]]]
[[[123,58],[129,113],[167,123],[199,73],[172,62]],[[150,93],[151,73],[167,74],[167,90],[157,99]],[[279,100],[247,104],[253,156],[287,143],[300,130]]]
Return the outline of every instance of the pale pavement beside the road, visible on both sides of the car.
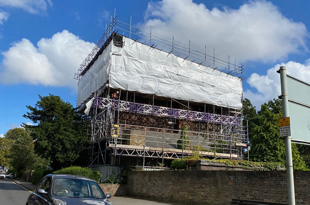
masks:
[[[21,179],[10,179],[12,182],[24,187],[25,189],[29,191],[34,191],[36,185],[33,185],[30,182],[23,181]],[[181,205],[181,204],[175,204],[170,202],[159,202],[159,201],[151,201],[151,200],[143,200],[143,199],[136,199],[136,198],[130,198],[130,197],[111,197],[109,199],[110,202],[112,202],[113,205]]]

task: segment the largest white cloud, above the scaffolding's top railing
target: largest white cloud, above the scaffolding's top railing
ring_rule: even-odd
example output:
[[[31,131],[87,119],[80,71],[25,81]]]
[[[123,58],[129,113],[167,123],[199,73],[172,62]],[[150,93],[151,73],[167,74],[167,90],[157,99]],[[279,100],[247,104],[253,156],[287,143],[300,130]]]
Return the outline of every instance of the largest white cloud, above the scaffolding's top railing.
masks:
[[[283,16],[271,2],[249,1],[238,9],[209,9],[192,0],[162,0],[150,2],[145,30],[174,39],[204,52],[237,62],[248,60],[275,61],[290,53],[307,50],[307,28]],[[241,64],[241,63],[238,63]]]

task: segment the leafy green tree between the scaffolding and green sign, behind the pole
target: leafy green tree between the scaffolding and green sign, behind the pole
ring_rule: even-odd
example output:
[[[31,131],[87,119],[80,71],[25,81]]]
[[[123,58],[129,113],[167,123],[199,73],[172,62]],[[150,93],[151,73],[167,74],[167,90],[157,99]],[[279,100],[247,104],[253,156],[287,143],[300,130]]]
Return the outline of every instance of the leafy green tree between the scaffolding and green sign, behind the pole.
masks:
[[[270,100],[261,106],[260,111],[253,112],[249,100],[244,104],[249,115],[250,158],[260,162],[280,162],[285,165],[285,146],[279,137],[279,118],[282,117],[282,106],[279,99]],[[255,108],[255,107],[254,107]],[[292,144],[293,166],[295,170],[306,170],[305,162],[299,155],[297,146]]]

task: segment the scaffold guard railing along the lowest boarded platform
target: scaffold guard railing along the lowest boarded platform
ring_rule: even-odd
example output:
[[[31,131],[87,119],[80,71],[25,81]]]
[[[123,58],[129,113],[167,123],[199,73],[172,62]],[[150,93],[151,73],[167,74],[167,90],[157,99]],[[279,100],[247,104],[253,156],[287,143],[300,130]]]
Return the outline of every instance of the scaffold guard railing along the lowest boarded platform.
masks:
[[[113,137],[109,141],[113,145],[143,146],[169,149],[170,151],[184,152],[185,150],[238,154],[241,144],[246,145],[247,136],[237,135],[234,130],[223,133],[213,131],[182,131],[166,128],[142,127],[137,125],[117,124],[111,130]],[[210,154],[210,153],[209,153]],[[228,155],[226,155],[227,157]]]

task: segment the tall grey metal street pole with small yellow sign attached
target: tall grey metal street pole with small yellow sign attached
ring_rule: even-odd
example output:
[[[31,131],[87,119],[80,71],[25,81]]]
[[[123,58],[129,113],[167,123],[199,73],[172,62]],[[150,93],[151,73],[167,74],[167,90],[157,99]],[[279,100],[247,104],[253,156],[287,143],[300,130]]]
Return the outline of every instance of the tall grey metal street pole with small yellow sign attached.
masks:
[[[289,117],[287,85],[286,85],[286,67],[285,66],[280,67],[280,80],[281,80],[281,96],[282,96],[283,117]],[[285,143],[288,203],[289,203],[289,205],[295,205],[295,190],[294,190],[291,136],[285,137],[284,143]]]

